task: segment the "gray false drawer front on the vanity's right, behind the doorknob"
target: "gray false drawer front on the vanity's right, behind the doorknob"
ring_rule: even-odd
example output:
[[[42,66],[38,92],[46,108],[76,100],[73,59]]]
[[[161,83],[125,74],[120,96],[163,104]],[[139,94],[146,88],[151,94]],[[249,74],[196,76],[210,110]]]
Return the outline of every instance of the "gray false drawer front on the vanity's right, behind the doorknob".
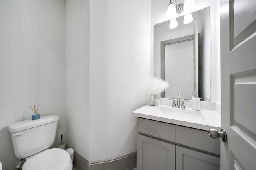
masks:
[[[176,125],[176,143],[220,155],[220,138],[213,139],[208,131]]]

